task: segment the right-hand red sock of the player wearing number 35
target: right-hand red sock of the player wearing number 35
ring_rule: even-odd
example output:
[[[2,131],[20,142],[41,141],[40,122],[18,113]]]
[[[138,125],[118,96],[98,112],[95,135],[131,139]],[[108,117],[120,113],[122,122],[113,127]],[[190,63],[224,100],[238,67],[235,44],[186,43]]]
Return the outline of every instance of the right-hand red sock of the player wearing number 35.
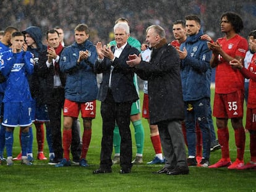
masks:
[[[245,132],[244,127],[235,128],[235,140],[237,148],[237,159],[244,160],[244,148],[245,148]]]

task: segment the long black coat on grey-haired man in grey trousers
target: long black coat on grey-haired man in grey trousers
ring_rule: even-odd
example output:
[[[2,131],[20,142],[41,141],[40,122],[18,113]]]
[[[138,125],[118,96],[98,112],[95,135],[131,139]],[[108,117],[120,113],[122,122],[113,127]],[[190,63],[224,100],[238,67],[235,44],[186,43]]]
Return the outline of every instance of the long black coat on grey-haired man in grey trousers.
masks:
[[[179,55],[173,46],[161,40],[150,63],[140,62],[135,72],[148,80],[150,123],[184,119]]]

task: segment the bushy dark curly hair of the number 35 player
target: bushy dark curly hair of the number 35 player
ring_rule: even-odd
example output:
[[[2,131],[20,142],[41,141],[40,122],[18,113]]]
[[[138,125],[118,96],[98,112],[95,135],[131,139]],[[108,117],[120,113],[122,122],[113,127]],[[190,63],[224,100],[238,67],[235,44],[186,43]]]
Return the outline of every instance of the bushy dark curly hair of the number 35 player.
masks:
[[[234,12],[224,12],[224,14],[221,15],[221,20],[223,19],[223,17],[227,17],[228,22],[231,23],[236,33],[240,33],[241,30],[244,28],[244,23],[242,22],[242,18],[240,17],[240,15]]]

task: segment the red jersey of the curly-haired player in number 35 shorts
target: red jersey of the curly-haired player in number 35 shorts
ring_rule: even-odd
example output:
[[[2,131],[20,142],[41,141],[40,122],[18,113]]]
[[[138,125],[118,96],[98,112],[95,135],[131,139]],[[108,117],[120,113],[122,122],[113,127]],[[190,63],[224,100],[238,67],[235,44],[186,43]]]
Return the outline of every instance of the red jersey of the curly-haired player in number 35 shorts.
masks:
[[[236,35],[230,40],[227,40],[226,37],[219,38],[217,41],[223,51],[233,58],[236,56],[244,58],[248,50],[247,40],[240,35]],[[219,55],[215,75],[215,92],[227,94],[237,90],[244,90],[244,77],[238,69],[232,69],[229,63]]]

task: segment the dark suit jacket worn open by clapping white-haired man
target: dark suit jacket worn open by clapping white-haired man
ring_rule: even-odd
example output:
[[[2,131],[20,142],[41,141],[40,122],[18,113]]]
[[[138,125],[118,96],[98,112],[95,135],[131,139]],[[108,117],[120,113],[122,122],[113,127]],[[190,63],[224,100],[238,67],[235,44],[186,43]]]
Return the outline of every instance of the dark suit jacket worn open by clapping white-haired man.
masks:
[[[115,46],[111,48],[114,52]],[[128,56],[130,54],[139,55],[139,51],[128,43],[119,58],[115,58],[111,61],[108,58],[104,58],[103,61],[96,61],[95,72],[103,73],[103,79],[100,83],[100,90],[98,92],[97,99],[105,101],[106,95],[109,90],[109,75],[111,65],[114,67],[111,76],[111,92],[115,102],[134,102],[139,99],[137,91],[134,86],[134,69],[126,64]]]

